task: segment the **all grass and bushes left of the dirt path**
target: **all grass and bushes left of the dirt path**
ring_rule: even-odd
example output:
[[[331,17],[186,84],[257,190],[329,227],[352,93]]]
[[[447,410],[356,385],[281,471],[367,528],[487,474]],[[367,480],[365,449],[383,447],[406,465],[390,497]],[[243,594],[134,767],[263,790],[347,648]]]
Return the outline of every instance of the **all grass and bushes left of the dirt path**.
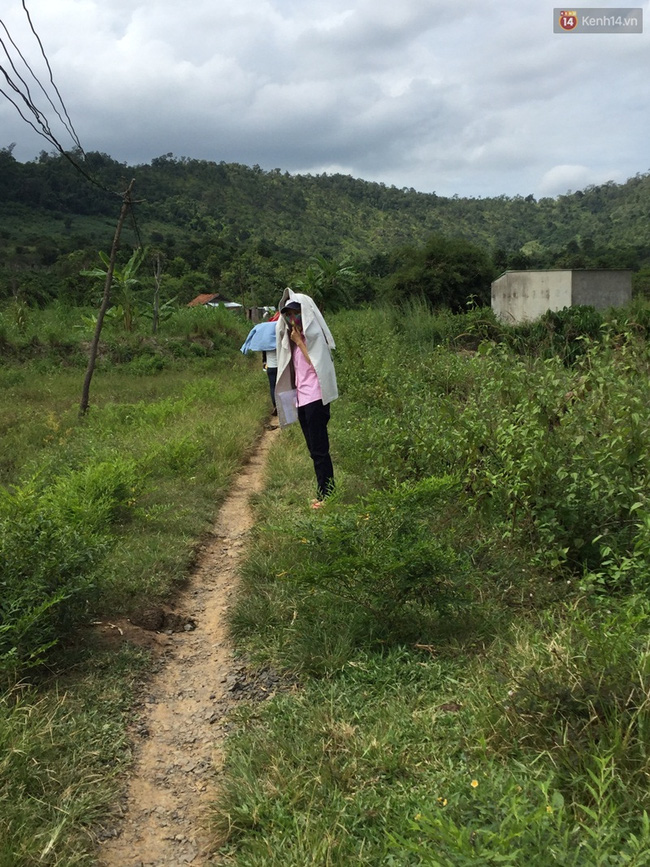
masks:
[[[55,313],[31,311],[33,332],[23,335],[8,327],[0,367],[7,867],[94,863],[95,834],[130,759],[126,726],[148,659],[102,646],[91,622],[173,598],[270,410],[259,359],[239,353],[246,325],[209,320],[195,351],[192,317],[183,316],[175,336],[166,323],[155,344],[107,333],[80,421],[83,365],[54,340],[47,357],[32,340],[41,345]],[[70,334],[83,357],[84,329]],[[162,368],[142,361],[157,356]]]

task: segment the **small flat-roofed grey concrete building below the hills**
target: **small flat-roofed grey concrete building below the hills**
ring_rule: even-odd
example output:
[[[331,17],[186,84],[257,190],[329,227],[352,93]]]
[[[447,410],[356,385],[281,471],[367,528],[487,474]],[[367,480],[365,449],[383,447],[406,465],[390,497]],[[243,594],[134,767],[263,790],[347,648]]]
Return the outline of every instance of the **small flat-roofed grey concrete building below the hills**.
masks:
[[[631,271],[506,271],[492,283],[492,309],[510,325],[579,304],[621,307],[631,297]]]

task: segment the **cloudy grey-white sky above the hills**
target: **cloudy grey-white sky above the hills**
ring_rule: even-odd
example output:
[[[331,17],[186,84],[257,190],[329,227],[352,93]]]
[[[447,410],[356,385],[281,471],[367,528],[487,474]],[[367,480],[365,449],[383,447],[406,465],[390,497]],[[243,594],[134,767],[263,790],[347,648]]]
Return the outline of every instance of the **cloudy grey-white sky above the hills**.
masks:
[[[553,2],[2,0],[0,66],[73,147],[22,65],[53,94],[27,10],[81,145],[129,165],[171,152],[443,196],[649,171],[650,0],[643,33],[598,35],[555,34]],[[53,149],[0,94],[13,142],[21,161]]]

